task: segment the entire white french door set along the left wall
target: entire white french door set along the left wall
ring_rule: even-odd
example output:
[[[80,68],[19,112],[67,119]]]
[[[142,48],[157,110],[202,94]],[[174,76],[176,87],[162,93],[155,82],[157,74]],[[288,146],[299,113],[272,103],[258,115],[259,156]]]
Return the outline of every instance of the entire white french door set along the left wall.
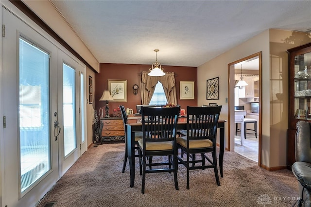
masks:
[[[34,206],[86,150],[85,67],[5,8],[2,22],[0,206]]]

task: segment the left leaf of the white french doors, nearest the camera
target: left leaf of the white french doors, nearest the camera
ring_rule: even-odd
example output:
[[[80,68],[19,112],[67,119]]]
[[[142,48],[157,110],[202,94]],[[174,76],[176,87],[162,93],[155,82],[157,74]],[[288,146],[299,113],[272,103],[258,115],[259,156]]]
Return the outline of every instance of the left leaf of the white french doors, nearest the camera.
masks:
[[[56,47],[3,9],[1,206],[33,206],[57,182]]]

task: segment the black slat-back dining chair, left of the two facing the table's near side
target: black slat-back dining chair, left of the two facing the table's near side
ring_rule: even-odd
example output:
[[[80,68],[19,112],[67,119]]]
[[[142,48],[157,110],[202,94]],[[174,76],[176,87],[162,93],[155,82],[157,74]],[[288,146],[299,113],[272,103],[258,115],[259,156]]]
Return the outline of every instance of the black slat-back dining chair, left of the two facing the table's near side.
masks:
[[[138,140],[141,193],[145,191],[146,173],[173,172],[175,189],[178,190],[176,132],[179,110],[180,106],[141,107],[143,138]],[[158,156],[161,159],[155,159]],[[152,163],[146,162],[147,157],[153,157]],[[160,167],[151,169],[151,166]]]

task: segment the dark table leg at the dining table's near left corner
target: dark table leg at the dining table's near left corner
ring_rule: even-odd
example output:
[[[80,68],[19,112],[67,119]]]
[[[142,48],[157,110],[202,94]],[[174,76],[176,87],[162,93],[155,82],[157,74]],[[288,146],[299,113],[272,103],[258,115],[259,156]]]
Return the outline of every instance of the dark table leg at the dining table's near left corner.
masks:
[[[132,132],[131,125],[127,125],[127,155],[130,164],[130,187],[134,187],[135,180],[135,150],[134,150],[134,132]]]

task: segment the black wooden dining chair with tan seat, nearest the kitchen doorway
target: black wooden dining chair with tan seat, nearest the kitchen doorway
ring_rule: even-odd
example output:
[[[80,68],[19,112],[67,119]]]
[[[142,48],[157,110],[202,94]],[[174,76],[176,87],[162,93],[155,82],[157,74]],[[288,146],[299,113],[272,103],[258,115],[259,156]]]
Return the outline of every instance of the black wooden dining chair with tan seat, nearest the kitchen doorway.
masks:
[[[177,158],[178,164],[183,164],[187,168],[187,189],[190,189],[189,171],[195,169],[213,168],[216,183],[220,186],[216,158],[216,134],[221,108],[222,106],[187,106],[187,135],[176,139],[178,149],[186,154],[186,158],[182,156],[177,156]],[[206,153],[211,153],[212,158]],[[196,157],[197,154],[201,156]]]

